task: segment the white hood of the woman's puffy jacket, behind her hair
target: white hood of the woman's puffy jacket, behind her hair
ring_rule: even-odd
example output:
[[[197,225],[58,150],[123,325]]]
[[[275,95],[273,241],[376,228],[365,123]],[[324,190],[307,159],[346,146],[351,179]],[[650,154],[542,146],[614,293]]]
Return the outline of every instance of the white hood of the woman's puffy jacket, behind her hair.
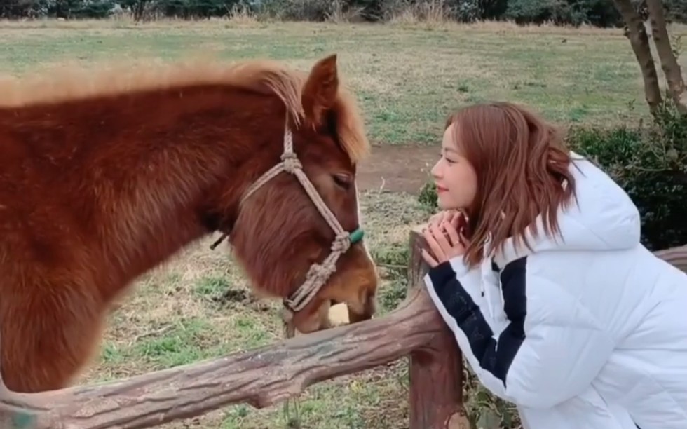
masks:
[[[570,171],[575,177],[576,193],[565,209],[559,207],[560,234],[545,236],[542,217],[536,219],[538,236],[531,228],[525,236],[532,250],[524,243],[515,247],[514,238],[508,238],[503,252],[496,252],[498,266],[545,250],[623,250],[640,243],[641,218],[630,196],[613,179],[591,161],[571,153]]]

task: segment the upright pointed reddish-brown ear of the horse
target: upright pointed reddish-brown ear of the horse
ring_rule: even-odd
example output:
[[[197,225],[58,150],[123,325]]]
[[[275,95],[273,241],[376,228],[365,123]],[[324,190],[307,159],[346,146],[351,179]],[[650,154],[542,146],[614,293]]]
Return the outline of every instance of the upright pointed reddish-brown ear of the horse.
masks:
[[[339,74],[336,70],[336,54],[315,63],[303,87],[303,109],[306,117],[319,128],[324,114],[334,107],[339,91]]]

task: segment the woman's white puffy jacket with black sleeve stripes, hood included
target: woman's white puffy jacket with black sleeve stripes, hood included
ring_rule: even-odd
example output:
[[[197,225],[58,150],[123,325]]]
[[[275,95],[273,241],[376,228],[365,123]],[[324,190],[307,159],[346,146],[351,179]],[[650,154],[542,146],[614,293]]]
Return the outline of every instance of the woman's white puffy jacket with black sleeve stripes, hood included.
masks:
[[[575,154],[573,154],[574,156]],[[425,282],[458,346],[526,429],[687,429],[687,275],[639,243],[637,207],[582,158],[564,241],[512,238]],[[579,170],[578,170],[579,169]]]

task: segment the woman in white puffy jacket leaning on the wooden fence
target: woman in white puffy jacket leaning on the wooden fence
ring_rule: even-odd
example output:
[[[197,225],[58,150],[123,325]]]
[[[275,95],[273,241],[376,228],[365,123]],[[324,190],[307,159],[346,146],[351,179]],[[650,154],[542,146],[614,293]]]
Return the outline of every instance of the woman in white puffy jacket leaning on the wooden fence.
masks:
[[[452,115],[432,173],[428,292],[524,428],[687,428],[687,275],[623,189],[508,103]]]

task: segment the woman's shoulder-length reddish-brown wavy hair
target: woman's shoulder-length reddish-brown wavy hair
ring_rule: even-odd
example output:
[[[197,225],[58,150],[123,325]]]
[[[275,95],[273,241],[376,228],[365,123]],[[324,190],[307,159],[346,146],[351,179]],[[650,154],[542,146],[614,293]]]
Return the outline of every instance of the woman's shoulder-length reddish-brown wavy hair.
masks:
[[[489,233],[492,252],[509,237],[529,246],[524,231],[529,226],[535,236],[539,233],[534,222],[539,214],[545,233],[558,233],[556,212],[575,191],[562,135],[536,114],[508,102],[465,107],[449,116],[446,128],[451,124],[456,149],[477,174],[475,202],[468,207],[468,265],[482,261]]]

